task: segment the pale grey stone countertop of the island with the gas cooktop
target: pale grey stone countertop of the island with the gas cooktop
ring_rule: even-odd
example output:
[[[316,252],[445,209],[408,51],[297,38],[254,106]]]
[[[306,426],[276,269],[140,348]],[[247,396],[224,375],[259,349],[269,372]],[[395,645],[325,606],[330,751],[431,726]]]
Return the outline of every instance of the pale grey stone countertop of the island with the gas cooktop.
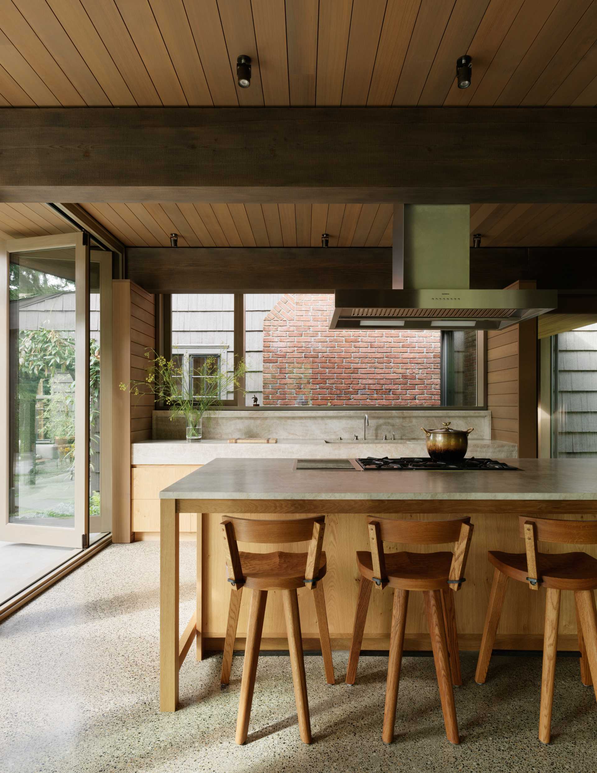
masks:
[[[348,450],[348,449],[347,449]],[[344,457],[350,455],[345,451]],[[300,454],[300,458],[307,458]],[[216,458],[161,499],[597,499],[597,459],[511,459],[518,471],[297,470],[295,459]]]

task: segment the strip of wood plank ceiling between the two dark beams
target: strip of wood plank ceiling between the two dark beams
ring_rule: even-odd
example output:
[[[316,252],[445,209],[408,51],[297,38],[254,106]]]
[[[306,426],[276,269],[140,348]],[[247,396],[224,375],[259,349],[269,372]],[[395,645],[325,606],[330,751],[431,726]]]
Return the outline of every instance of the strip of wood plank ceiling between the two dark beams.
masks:
[[[14,205],[12,205],[14,206]],[[391,247],[392,204],[86,203],[128,246]],[[0,215],[1,217],[2,215]],[[0,223],[2,227],[2,223]],[[597,244],[597,204],[473,204],[473,233],[483,247],[580,247]]]

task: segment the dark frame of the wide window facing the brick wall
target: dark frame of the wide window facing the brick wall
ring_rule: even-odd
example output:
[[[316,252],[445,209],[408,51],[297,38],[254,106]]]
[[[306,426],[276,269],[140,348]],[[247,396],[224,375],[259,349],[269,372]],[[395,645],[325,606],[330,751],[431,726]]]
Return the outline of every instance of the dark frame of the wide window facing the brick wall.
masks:
[[[271,292],[268,289],[267,292]],[[221,293],[230,294],[229,290],[220,290]],[[253,290],[253,292],[259,292]],[[280,291],[283,292],[283,291]],[[218,295],[219,293],[209,293],[209,295]],[[246,358],[245,352],[245,293],[235,292],[234,295],[234,357],[235,360]],[[164,313],[161,316],[161,328],[159,331],[160,340],[164,347],[164,354],[169,359],[172,353],[180,353],[180,349],[185,347],[177,346],[176,352],[172,351],[172,314],[171,314],[171,295],[162,295],[160,301]],[[187,349],[197,349],[196,346],[187,346]],[[212,349],[217,347],[212,346]],[[253,408],[245,404],[245,377],[240,380],[240,388],[236,390],[233,400],[222,400],[222,408],[226,410],[487,410],[487,331],[477,331],[477,405],[396,405],[396,406],[352,406],[352,405],[334,405],[334,406],[311,406],[311,405],[261,405]],[[165,406],[164,406],[165,407]],[[166,407],[165,407],[166,408]]]

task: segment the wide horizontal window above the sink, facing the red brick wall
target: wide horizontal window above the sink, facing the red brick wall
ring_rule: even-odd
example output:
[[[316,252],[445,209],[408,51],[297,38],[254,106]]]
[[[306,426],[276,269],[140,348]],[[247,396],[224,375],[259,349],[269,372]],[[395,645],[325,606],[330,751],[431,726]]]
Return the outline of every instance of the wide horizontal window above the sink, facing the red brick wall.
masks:
[[[219,358],[232,369],[238,352],[244,393],[225,405],[482,407],[482,332],[330,330],[333,308],[331,293],[173,295],[172,354],[192,380],[193,363]]]

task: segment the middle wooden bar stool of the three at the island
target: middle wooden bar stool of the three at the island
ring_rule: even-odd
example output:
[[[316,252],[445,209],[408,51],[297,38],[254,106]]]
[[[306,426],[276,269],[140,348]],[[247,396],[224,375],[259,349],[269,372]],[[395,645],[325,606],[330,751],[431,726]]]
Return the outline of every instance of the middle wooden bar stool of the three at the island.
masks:
[[[464,581],[463,572],[473,525],[470,523],[470,518],[419,522],[368,518],[367,524],[371,553],[365,551],[357,553],[361,584],[354,616],[346,683],[354,684],[357,674],[371,587],[375,583],[381,591],[389,585],[395,590],[382,738],[386,744],[392,743],[409,591],[423,591],[446,734],[449,741],[458,744],[460,738],[452,685],[462,684],[462,679],[452,591],[458,591]],[[447,551],[384,553],[384,542],[411,545],[439,545],[455,542],[456,547],[453,553]]]

